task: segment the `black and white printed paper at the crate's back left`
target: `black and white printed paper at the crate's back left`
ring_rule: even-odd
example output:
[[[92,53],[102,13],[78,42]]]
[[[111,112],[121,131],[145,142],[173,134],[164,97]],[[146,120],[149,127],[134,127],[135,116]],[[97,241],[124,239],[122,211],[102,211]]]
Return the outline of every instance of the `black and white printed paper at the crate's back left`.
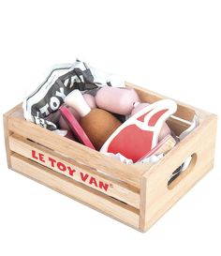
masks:
[[[23,101],[25,119],[51,130],[56,125],[46,120],[64,103],[64,98],[74,89],[81,92],[95,90],[103,85],[123,87],[124,81],[115,75],[100,71],[88,64],[76,60],[69,65],[53,68],[44,83]]]

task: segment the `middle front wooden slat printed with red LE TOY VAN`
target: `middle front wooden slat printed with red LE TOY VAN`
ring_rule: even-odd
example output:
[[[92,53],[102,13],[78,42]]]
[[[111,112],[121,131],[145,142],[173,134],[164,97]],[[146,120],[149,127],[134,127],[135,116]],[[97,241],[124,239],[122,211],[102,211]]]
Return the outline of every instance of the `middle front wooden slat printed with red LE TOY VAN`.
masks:
[[[111,177],[107,175],[98,173],[96,170],[92,170],[91,168],[82,166],[75,162],[74,160],[65,158],[64,156],[61,156],[37,143],[30,142],[22,138],[21,136],[13,134],[9,137],[9,147],[10,150],[12,150],[13,152],[18,153],[25,158],[33,159],[36,162],[52,169],[55,172],[62,173],[71,179],[74,179],[91,188],[95,188],[98,191],[102,191],[103,193],[110,195],[111,197],[116,198],[122,202],[128,203],[136,208],[139,208],[140,206],[140,194],[139,192],[134,191],[135,189],[132,189],[131,187],[124,185],[122,182],[111,179]],[[33,150],[35,150],[36,152],[36,158],[33,158],[32,156]],[[39,154],[41,154],[41,157],[43,156],[44,161],[39,159]],[[49,160],[50,158],[55,160],[56,163],[62,162],[62,164],[64,164],[65,166],[70,167],[71,170],[75,170],[75,173],[69,173],[68,170],[66,170],[66,172],[61,171],[57,167],[57,164],[52,164],[52,160]],[[86,183],[81,178],[81,175],[83,175],[83,177],[85,177],[85,175],[88,175]],[[92,184],[88,182],[91,177],[93,177]],[[108,185],[107,191],[105,189],[99,188],[99,182]],[[97,187],[95,186],[95,184]]]

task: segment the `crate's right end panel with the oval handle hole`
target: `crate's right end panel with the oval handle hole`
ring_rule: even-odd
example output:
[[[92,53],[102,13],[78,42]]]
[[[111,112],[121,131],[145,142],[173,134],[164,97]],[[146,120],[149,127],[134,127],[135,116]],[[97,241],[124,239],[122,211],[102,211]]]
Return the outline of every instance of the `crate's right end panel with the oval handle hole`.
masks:
[[[198,128],[143,175],[140,188],[141,231],[148,230],[213,168],[216,122],[217,117],[214,114],[208,115]],[[170,174],[192,155],[194,155],[193,164],[168,188]]]

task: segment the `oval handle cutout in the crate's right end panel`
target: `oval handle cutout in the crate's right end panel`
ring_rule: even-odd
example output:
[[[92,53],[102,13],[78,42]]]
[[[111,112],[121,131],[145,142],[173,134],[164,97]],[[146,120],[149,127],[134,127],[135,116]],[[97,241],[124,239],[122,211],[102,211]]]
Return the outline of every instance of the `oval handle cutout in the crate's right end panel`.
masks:
[[[169,181],[168,181],[169,190],[172,189],[172,188],[175,188],[180,183],[180,181],[182,179],[184,179],[184,177],[194,169],[194,167],[196,165],[196,162],[197,162],[197,158],[198,157],[197,157],[196,153],[192,154],[190,157],[185,159],[186,161],[189,160],[189,163],[184,168],[184,170],[179,172],[179,169],[182,168],[182,166],[184,165],[184,163],[183,163],[173,173],[171,173],[171,175],[169,176]]]

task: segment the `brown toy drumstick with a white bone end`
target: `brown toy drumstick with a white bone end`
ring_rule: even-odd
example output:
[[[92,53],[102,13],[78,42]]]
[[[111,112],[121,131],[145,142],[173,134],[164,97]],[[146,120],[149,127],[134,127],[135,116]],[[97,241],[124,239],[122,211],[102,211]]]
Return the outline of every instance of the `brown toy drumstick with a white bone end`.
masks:
[[[85,131],[96,150],[121,126],[121,122],[111,113],[101,109],[91,109],[79,90],[74,90],[65,98],[66,105],[81,115],[81,128]]]

